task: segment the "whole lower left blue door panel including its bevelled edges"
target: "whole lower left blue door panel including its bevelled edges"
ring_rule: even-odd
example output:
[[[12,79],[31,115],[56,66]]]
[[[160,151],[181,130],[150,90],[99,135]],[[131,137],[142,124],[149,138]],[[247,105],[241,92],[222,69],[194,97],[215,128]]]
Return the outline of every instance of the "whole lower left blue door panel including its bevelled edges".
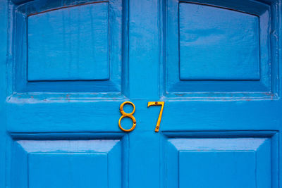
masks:
[[[119,139],[13,141],[12,187],[121,187]]]

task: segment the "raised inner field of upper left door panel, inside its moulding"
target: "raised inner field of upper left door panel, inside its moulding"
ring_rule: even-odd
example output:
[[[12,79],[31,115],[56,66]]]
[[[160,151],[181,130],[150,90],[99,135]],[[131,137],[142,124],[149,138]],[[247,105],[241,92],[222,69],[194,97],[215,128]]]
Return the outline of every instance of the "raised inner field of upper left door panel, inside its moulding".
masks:
[[[109,80],[109,4],[27,17],[27,80]]]

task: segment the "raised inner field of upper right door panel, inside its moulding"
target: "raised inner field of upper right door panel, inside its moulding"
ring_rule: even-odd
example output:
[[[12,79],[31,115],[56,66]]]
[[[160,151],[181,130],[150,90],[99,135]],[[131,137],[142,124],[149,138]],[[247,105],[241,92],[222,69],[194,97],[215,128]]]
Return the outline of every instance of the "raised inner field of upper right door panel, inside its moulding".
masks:
[[[260,78],[255,15],[180,3],[179,45],[180,80]]]

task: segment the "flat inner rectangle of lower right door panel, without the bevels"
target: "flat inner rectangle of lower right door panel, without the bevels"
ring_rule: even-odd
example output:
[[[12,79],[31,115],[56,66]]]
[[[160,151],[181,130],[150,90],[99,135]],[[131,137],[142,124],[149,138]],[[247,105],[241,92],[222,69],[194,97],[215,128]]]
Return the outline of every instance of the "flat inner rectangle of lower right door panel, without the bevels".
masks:
[[[179,187],[257,187],[255,163],[253,151],[179,151]]]

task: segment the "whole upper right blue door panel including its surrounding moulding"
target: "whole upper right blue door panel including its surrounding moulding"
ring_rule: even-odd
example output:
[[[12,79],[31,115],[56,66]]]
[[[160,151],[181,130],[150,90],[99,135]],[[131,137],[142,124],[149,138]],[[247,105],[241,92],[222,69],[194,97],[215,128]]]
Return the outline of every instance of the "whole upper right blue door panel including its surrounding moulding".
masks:
[[[259,1],[167,0],[166,7],[164,96],[276,96],[278,59],[272,53],[277,38],[271,31],[278,25],[273,6]]]

